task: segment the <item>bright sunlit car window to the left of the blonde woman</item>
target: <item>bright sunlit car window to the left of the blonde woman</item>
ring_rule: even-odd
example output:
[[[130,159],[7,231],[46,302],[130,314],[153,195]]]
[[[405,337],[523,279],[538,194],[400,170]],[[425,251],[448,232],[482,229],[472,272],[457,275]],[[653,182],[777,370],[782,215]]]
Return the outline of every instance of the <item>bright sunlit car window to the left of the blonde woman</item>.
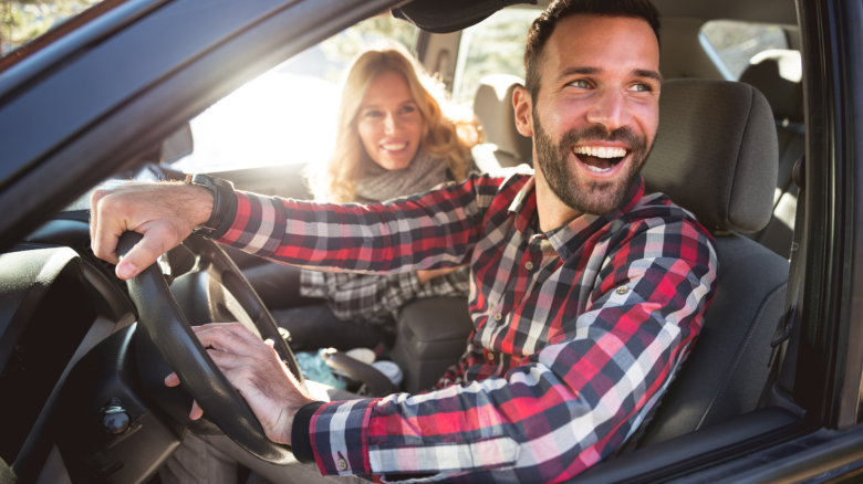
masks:
[[[246,84],[191,119],[195,150],[171,166],[191,171],[308,164],[333,150],[339,82],[360,53],[401,43],[416,28],[381,15],[340,32]]]

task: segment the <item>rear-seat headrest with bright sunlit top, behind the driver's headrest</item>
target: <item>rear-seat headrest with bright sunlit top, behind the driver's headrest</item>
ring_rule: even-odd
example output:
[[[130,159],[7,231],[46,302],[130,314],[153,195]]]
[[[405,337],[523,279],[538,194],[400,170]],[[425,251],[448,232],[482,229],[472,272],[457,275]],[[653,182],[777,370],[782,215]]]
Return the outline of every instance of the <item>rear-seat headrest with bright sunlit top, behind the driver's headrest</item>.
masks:
[[[740,75],[740,82],[763,93],[773,117],[803,122],[803,64],[800,51],[771,49],[757,54]]]

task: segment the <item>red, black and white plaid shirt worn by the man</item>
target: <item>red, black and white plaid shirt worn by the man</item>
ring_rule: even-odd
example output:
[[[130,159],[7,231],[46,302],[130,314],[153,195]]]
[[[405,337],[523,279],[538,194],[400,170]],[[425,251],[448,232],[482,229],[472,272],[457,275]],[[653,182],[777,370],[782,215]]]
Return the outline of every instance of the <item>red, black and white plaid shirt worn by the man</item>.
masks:
[[[323,474],[559,482],[633,434],[680,367],[716,290],[713,239],[640,178],[624,207],[542,233],[532,172],[383,204],[238,192],[219,240],[308,269],[469,263],[475,330],[437,389],[333,402],[311,418]]]

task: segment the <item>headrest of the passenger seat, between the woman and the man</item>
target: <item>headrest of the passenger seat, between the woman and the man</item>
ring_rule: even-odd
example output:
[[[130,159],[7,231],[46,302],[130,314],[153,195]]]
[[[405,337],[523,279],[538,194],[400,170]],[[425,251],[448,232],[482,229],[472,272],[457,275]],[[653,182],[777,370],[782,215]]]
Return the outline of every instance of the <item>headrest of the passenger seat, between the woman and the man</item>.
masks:
[[[512,155],[519,162],[533,157],[533,140],[516,129],[516,111],[512,92],[524,81],[509,74],[487,75],[479,81],[474,98],[474,114],[486,133],[486,143],[497,145],[498,150]]]

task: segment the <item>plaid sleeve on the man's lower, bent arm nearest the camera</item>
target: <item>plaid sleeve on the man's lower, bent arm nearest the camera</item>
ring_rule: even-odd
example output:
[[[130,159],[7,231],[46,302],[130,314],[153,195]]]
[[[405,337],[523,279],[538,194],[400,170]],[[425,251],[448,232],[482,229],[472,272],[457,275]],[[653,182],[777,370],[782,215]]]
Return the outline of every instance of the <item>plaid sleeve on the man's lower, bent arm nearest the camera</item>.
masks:
[[[465,378],[488,358],[474,341],[447,373],[461,385],[320,408],[309,429],[318,466],[565,481],[623,444],[665,391],[701,326],[716,270],[713,241],[694,223],[643,223],[609,254],[584,311],[561,315],[547,346],[503,378]]]

